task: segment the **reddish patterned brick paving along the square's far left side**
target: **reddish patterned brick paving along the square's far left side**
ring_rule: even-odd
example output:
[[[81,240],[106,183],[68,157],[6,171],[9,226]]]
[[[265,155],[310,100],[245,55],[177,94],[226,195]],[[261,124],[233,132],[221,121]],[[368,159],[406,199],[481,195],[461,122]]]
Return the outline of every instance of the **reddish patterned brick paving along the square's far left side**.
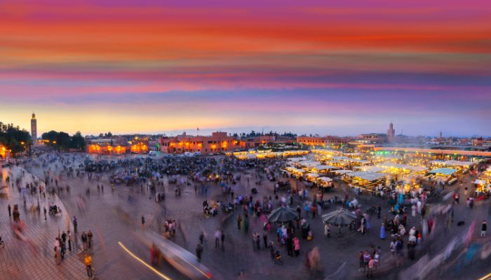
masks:
[[[7,169],[2,169],[3,179],[0,186],[6,186]],[[22,172],[20,167],[12,169],[14,178]],[[32,176],[26,174],[22,177],[21,186],[30,183]],[[54,242],[58,237],[58,230],[67,230],[69,219],[67,211],[58,197],[40,197],[38,194],[27,195],[24,204],[21,193],[17,188],[4,188],[8,195],[6,200],[0,200],[0,235],[5,241],[5,248],[0,249],[0,279],[86,279],[85,265],[81,262],[79,253],[75,250],[65,254],[65,259],[60,265],[55,264]],[[41,214],[32,213],[30,207],[36,205],[39,200]],[[43,215],[43,207],[48,209],[48,204],[54,202],[62,209],[62,214]],[[20,221],[25,223],[23,231],[25,237],[32,242],[21,241],[16,238],[11,230],[13,218],[8,216],[8,204],[13,209],[18,204]],[[68,221],[68,222],[67,222]]]

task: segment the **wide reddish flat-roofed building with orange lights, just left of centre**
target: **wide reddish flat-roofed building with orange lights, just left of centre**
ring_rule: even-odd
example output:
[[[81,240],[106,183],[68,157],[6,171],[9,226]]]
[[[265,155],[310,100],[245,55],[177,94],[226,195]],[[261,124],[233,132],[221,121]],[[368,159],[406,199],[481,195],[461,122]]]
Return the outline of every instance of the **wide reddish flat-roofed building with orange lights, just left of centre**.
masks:
[[[237,139],[227,136],[227,132],[213,132],[211,136],[191,136],[185,132],[177,137],[161,137],[160,148],[163,153],[222,153],[241,148]]]

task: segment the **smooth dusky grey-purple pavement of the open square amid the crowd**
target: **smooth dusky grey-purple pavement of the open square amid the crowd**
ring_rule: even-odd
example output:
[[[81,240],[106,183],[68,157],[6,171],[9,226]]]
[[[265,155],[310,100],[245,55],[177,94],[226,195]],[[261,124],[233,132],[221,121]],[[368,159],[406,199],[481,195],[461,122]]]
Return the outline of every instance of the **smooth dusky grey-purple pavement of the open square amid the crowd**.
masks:
[[[62,167],[60,164],[51,164],[49,167],[38,167],[36,165],[27,164],[29,172],[43,175],[43,171],[51,168],[53,175],[58,176],[62,173]],[[252,170],[251,170],[252,171]],[[247,183],[247,178],[250,179],[250,183]],[[475,178],[472,176],[464,177],[464,186],[471,186],[471,181]],[[256,187],[259,190],[259,194],[256,195],[258,199],[264,195],[272,195],[273,182],[262,182],[260,186],[256,186],[256,179],[252,174],[243,174],[242,180],[233,186],[236,194],[248,195],[250,189]],[[376,216],[372,216],[372,229],[368,231],[366,235],[361,235],[357,232],[348,232],[348,234],[341,238],[335,238],[335,230],[332,230],[333,237],[327,239],[323,235],[323,223],[321,221],[321,214],[316,218],[308,217],[307,221],[311,225],[311,230],[314,233],[313,241],[306,241],[300,238],[300,256],[289,257],[285,248],[279,248],[283,255],[282,266],[273,265],[269,260],[269,251],[262,249],[255,251],[253,249],[252,235],[253,232],[262,233],[262,224],[260,218],[253,217],[250,219],[249,232],[241,232],[236,226],[236,215],[227,216],[220,213],[218,216],[205,218],[201,213],[201,203],[203,200],[215,199],[229,201],[229,195],[222,195],[220,189],[217,186],[211,187],[206,195],[200,193],[194,193],[193,186],[184,187],[184,191],[181,197],[175,197],[173,192],[173,186],[168,186],[166,183],[166,201],[157,203],[150,197],[150,194],[144,188],[140,186],[116,186],[114,192],[109,187],[109,183],[105,176],[101,181],[88,180],[84,178],[70,178],[66,179],[66,176],[62,177],[62,184],[72,187],[72,191],[68,193],[61,193],[60,200],[65,204],[67,212],[70,216],[76,215],[79,220],[79,232],[81,230],[92,230],[95,234],[95,246],[93,248],[93,260],[95,271],[99,279],[161,279],[156,276],[154,272],[142,266],[136,262],[133,258],[130,258],[119,245],[118,241],[121,241],[125,246],[130,248],[133,253],[140,258],[149,262],[149,249],[142,245],[139,239],[140,217],[145,216],[145,230],[155,230],[159,232],[158,221],[164,221],[165,218],[173,218],[180,225],[180,230],[177,230],[177,236],[173,237],[173,241],[176,244],[186,248],[191,253],[194,253],[194,248],[198,243],[199,234],[201,231],[205,231],[208,235],[208,246],[205,247],[203,252],[203,264],[212,269],[213,276],[216,279],[238,279],[239,273],[243,272],[241,279],[324,279],[339,267],[345,267],[344,276],[339,279],[356,279],[364,278],[364,274],[358,272],[358,253],[361,250],[370,248],[370,246],[380,246],[382,248],[382,269],[375,273],[375,276],[379,279],[396,279],[398,271],[404,267],[408,267],[412,264],[409,260],[401,260],[401,267],[394,268],[394,264],[389,257],[389,244],[390,238],[382,241],[378,238],[379,228],[382,223],[382,219],[377,219]],[[103,184],[105,186],[104,193],[102,191],[97,192],[97,184]],[[90,188],[90,197],[86,196],[86,188]],[[346,186],[342,183],[336,183],[336,190],[339,193],[343,193],[343,189]],[[450,187],[447,191],[460,188],[459,185]],[[469,188],[472,189],[472,188]],[[335,195],[331,193],[330,195]],[[354,196],[349,192],[350,198]],[[462,195],[462,190],[461,190]],[[328,195],[329,196],[329,195]],[[80,197],[86,200],[84,209],[79,207]],[[128,200],[128,197],[130,199]],[[462,195],[462,197],[464,197]],[[363,205],[363,209],[374,204],[382,204],[382,218],[385,213],[388,213],[389,207],[384,201],[377,197],[358,197],[358,200]],[[2,211],[0,211],[0,217],[6,214],[6,201],[0,202]],[[296,200],[295,206],[301,204],[301,201]],[[487,203],[487,202],[486,202]],[[335,208],[324,210],[332,211]],[[121,215],[122,212],[126,212],[128,217]],[[241,212],[241,211],[240,211]],[[22,215],[22,212],[21,212]],[[475,209],[471,210],[465,206],[464,202],[455,207],[455,221],[466,221],[466,225],[470,225],[471,222],[476,219],[485,218],[487,216],[487,204],[478,204]],[[22,216],[21,216],[22,218]],[[390,218],[390,216],[389,216]],[[8,217],[7,217],[8,219]],[[49,218],[48,218],[49,219]],[[54,220],[54,218],[53,218]],[[412,225],[419,224],[419,217],[408,217],[408,228]],[[482,220],[481,220],[482,221]],[[63,224],[62,219],[59,223]],[[4,223],[3,223],[4,224]],[[61,225],[55,225],[59,227]],[[40,225],[33,225],[32,228],[41,228]],[[215,249],[213,233],[218,228],[224,230],[226,241],[224,251]],[[42,230],[42,228],[41,228]],[[456,227],[455,225],[448,231],[441,232],[442,238],[435,238],[432,242],[432,250],[438,251],[443,248],[448,240],[452,236],[459,234],[467,230],[465,227]],[[54,237],[57,234],[57,229],[54,229],[53,233],[47,234]],[[296,235],[300,236],[300,232],[297,230]],[[438,236],[438,237],[440,237]],[[47,238],[47,237],[46,237]],[[9,243],[13,239],[8,239]],[[275,239],[274,232],[271,232],[268,236],[269,240]],[[51,239],[45,244],[45,250],[47,251],[46,273],[55,273],[58,270],[53,269],[54,258],[49,255],[52,247]],[[321,265],[323,269],[321,272],[312,273],[304,267],[304,260],[307,251],[317,246],[321,251]],[[22,254],[28,253],[28,249],[24,248]],[[419,252],[417,258],[423,253]],[[48,258],[51,257],[51,258]],[[75,260],[76,258],[74,258]],[[69,262],[67,262],[69,263]],[[79,263],[79,267],[68,267],[69,271],[77,271],[81,277],[83,277],[84,269]],[[16,262],[17,267],[18,262]],[[66,265],[65,262],[62,265]],[[9,266],[10,267],[10,266]],[[14,267],[16,267],[14,265]],[[60,266],[61,269],[62,266]],[[58,267],[57,267],[58,268]],[[11,268],[8,268],[11,269]],[[182,274],[175,271],[170,265],[163,263],[159,270],[169,276],[171,279],[185,279]],[[55,273],[57,276],[63,275],[60,272]],[[23,279],[19,275],[12,274],[13,279]],[[61,276],[63,277],[63,276]],[[465,277],[457,277],[459,279],[465,279]],[[1,277],[0,277],[1,279]],[[27,279],[31,279],[30,277]],[[35,279],[35,278],[34,278]],[[70,278],[72,279],[72,278]],[[73,278],[76,279],[76,278]],[[455,277],[448,276],[445,279],[455,279]]]

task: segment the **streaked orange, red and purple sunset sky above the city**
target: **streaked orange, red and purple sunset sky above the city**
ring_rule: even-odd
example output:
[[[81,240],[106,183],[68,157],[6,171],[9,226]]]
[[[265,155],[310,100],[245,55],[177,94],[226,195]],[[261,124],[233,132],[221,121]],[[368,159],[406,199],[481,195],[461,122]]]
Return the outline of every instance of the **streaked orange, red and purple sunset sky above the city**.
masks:
[[[0,121],[33,111],[38,134],[490,136],[491,2],[0,0]]]

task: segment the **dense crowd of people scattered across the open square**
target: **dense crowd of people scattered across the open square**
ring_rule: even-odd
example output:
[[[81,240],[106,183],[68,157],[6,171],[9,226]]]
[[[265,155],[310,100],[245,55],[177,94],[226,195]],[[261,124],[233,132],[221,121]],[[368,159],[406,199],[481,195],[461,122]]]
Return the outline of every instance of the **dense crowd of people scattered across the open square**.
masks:
[[[78,164],[77,162],[82,162]],[[442,206],[442,209],[435,210],[434,207],[428,206],[429,197],[433,194],[432,190],[425,188],[412,188],[409,191],[403,186],[394,184],[389,187],[377,186],[376,191],[382,192],[383,195],[377,196],[370,200],[370,204],[361,205],[359,201],[366,202],[363,193],[357,192],[351,195],[347,191],[342,191],[328,195],[328,200],[324,200],[324,193],[321,188],[316,186],[298,184],[295,190],[286,188],[280,189],[278,184],[274,184],[273,189],[257,189],[261,183],[267,179],[273,181],[276,173],[283,166],[282,160],[265,159],[265,160],[237,160],[235,158],[217,158],[217,157],[177,157],[169,156],[163,158],[120,158],[118,160],[95,159],[81,160],[72,155],[55,156],[46,155],[39,158],[36,165],[46,167],[43,180],[32,177],[29,183],[25,183],[20,178],[13,178],[10,174],[9,181],[11,186],[15,187],[25,198],[24,203],[31,202],[32,214],[40,215],[43,204],[39,204],[29,197],[35,197],[39,194],[41,197],[53,197],[53,195],[69,194],[70,187],[62,183],[65,179],[72,176],[79,178],[85,176],[89,181],[97,184],[97,193],[104,193],[105,180],[109,181],[114,190],[114,185],[140,185],[145,187],[147,192],[154,194],[156,201],[163,201],[166,190],[174,186],[176,199],[178,200],[182,191],[186,188],[192,190],[196,196],[203,196],[203,216],[227,218],[236,220],[236,226],[240,232],[246,234],[249,239],[252,234],[252,251],[261,252],[269,251],[271,261],[277,264],[283,264],[281,251],[285,250],[285,255],[298,257],[304,255],[305,264],[309,268],[318,268],[320,252],[317,250],[304,250],[302,239],[306,242],[313,239],[315,232],[310,228],[304,236],[300,228],[309,226],[309,222],[320,222],[319,212],[328,209],[333,205],[343,207],[356,215],[356,219],[351,223],[350,229],[356,235],[368,235],[374,228],[375,214],[377,216],[377,228],[381,224],[380,230],[375,231],[375,237],[385,244],[391,252],[394,265],[397,267],[403,265],[403,257],[407,256],[408,260],[415,260],[417,253],[422,251],[423,241],[431,238],[431,232],[450,225],[454,221],[454,208]],[[54,170],[48,165],[60,167],[62,172],[55,174]],[[272,175],[271,175],[272,174]],[[20,176],[31,176],[22,171]],[[102,183],[104,181],[104,183]],[[22,183],[24,182],[24,183]],[[165,182],[165,183],[164,183]],[[251,183],[252,187],[251,188]],[[107,186],[107,185],[106,185]],[[247,187],[247,188],[246,188]],[[87,188],[90,191],[90,188]],[[86,196],[90,193],[86,190]],[[199,192],[201,190],[201,192]],[[214,190],[209,192],[209,190]],[[220,190],[217,194],[216,190]],[[147,193],[147,194],[148,194]],[[260,193],[260,194],[258,194]],[[382,194],[381,193],[381,194]],[[163,195],[163,196],[162,196]],[[130,200],[128,196],[128,201]],[[459,193],[452,196],[455,205],[459,204]],[[375,203],[374,203],[375,202]],[[392,203],[394,202],[394,203]],[[473,209],[474,202],[471,197],[466,198],[467,206]],[[165,202],[163,202],[165,203]],[[199,204],[199,203],[198,203]],[[382,204],[383,207],[382,207]],[[289,223],[270,223],[267,215],[276,207],[294,207],[297,205],[298,217]],[[18,211],[14,206],[13,220],[20,221]],[[194,206],[193,206],[194,207]],[[17,207],[18,208],[18,207]],[[199,209],[199,206],[196,207]],[[43,209],[48,214],[62,214],[62,207],[55,202],[49,202]],[[295,209],[295,208],[294,208]],[[384,211],[386,210],[386,214]],[[9,205],[9,215],[11,207]],[[227,215],[227,216],[226,216]],[[207,220],[205,220],[207,221]],[[441,223],[443,221],[443,223]],[[153,223],[154,221],[152,221]],[[145,227],[144,216],[142,216],[142,228]],[[295,225],[297,223],[297,225]],[[262,225],[260,228],[250,227],[255,224]],[[55,238],[55,258],[60,263],[65,258],[65,254],[72,251],[72,248],[79,248],[76,244],[77,239],[81,239],[81,251],[88,253],[86,260],[87,274],[93,276],[91,268],[91,250],[93,246],[93,234],[90,232],[77,231],[76,220],[72,223],[74,230],[60,232]],[[173,219],[166,218],[162,223],[162,235],[167,238],[175,237],[177,223]],[[325,223],[323,225],[324,235],[330,237],[332,225]],[[480,236],[485,238],[487,225],[483,221],[481,225]],[[215,240],[216,251],[225,251],[225,228],[217,229],[213,235]],[[228,233],[227,233],[228,234]],[[356,238],[356,237],[355,237]],[[201,261],[203,251],[207,250],[208,235],[203,230],[199,235],[199,242],[196,245],[196,257]],[[382,243],[382,244],[384,244]],[[390,243],[390,244],[389,244]],[[159,251],[152,246],[151,262],[156,265],[159,259]],[[220,249],[220,250],[218,250]],[[228,251],[228,249],[227,249]],[[373,273],[381,266],[381,248],[370,248],[360,252],[360,271],[367,277],[372,277]],[[288,257],[287,257],[288,258]],[[295,259],[295,258],[293,258]],[[384,258],[388,260],[389,258]]]

